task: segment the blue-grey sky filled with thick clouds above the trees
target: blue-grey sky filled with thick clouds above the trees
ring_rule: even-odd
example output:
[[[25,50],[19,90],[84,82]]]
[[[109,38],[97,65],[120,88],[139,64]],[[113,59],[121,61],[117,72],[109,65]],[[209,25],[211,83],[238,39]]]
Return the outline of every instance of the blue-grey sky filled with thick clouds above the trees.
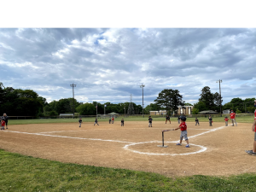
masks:
[[[47,102],[154,102],[179,90],[198,102],[205,86],[225,102],[256,97],[255,28],[0,28],[0,82]],[[142,90],[140,85],[144,84]]]

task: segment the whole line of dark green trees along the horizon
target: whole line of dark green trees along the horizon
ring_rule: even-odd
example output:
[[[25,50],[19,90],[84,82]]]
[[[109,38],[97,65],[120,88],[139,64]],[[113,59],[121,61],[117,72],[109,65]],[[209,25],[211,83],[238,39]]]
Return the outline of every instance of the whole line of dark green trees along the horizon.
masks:
[[[220,112],[222,97],[212,93],[210,87],[205,86],[201,90],[201,97],[194,104],[193,113],[204,110]],[[233,98],[230,102],[222,105],[222,110],[231,109],[236,113],[253,113],[255,108],[253,102],[255,98]],[[221,101],[221,102],[220,102]],[[183,96],[178,90],[165,89],[160,91],[154,103],[150,103],[143,109],[142,105],[131,102],[134,114],[149,114],[149,111],[166,110],[168,114],[177,113],[178,106],[192,106],[183,101]],[[79,113],[80,115],[96,115],[108,113],[128,113],[130,102],[111,103],[111,102],[86,102],[80,103],[73,98],[60,99],[59,101],[46,102],[42,96],[38,96],[33,90],[20,90],[12,87],[4,87],[0,82],[0,114],[7,113],[9,116],[55,116],[60,113]]]

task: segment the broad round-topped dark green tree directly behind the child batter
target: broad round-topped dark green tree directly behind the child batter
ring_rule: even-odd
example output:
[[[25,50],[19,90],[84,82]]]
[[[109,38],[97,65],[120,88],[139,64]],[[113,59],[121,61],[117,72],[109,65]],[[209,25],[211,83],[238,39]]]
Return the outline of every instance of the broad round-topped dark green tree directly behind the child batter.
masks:
[[[166,112],[174,112],[178,106],[183,106],[183,96],[179,94],[178,90],[165,89],[159,93],[159,96],[154,102],[161,108],[166,108]]]

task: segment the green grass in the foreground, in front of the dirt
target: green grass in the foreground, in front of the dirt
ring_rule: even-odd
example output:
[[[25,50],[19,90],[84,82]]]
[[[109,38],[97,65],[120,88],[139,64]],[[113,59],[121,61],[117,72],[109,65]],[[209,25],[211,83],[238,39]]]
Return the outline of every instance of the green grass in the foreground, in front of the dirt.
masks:
[[[256,175],[165,177],[12,154],[0,149],[0,191],[255,191]]]

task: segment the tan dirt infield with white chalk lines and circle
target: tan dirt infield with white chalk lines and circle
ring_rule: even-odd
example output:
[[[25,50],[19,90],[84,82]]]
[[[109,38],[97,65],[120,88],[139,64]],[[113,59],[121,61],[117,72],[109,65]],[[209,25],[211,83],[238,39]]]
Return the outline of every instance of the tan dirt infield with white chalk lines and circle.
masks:
[[[190,148],[177,146],[177,122],[99,122],[74,124],[9,125],[0,131],[0,148],[10,152],[61,162],[90,166],[158,172],[168,177],[188,175],[229,176],[256,172],[256,156],[245,153],[253,148],[251,124],[224,126],[223,123],[195,125],[188,122]]]

